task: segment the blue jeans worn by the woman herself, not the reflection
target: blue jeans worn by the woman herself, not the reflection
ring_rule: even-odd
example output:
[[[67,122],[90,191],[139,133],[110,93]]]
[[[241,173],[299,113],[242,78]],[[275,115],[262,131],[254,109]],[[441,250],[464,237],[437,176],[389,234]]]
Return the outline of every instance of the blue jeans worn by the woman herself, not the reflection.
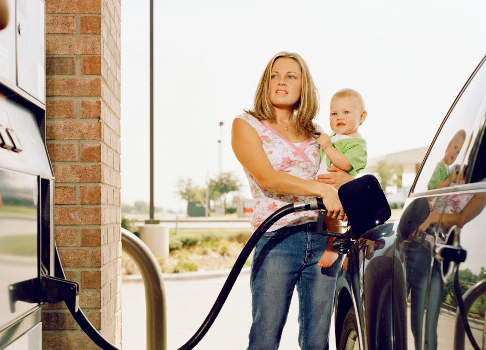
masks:
[[[342,259],[339,257],[330,268],[318,267],[328,238],[317,235],[308,225],[267,232],[255,247],[250,277],[253,315],[250,350],[278,348],[296,285],[300,347],[310,350],[328,346]]]

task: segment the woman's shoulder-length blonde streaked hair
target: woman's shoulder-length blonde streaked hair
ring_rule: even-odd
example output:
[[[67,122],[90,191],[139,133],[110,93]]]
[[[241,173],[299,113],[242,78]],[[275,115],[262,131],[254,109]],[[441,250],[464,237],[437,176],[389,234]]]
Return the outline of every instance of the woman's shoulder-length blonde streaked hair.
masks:
[[[302,89],[300,99],[297,101],[294,110],[295,126],[299,134],[304,134],[306,137],[310,137],[315,133],[315,127],[312,120],[317,116],[319,99],[307,63],[305,63],[304,59],[296,53],[279,52],[272,57],[258,83],[257,92],[255,94],[255,105],[253,109],[245,112],[253,115],[259,120],[268,120],[270,122],[276,121],[275,109],[270,102],[269,91],[273,64],[279,58],[291,58],[295,60],[302,70]]]

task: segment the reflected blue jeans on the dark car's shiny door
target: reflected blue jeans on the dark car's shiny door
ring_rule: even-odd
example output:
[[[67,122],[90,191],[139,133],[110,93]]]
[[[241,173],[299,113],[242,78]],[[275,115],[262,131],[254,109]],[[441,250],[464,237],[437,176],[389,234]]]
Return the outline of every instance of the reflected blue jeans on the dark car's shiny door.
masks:
[[[407,294],[411,292],[410,320],[415,348],[422,348],[422,327],[424,310],[427,310],[425,322],[425,349],[437,348],[437,323],[442,303],[444,284],[440,276],[440,265],[434,259],[430,249],[422,243],[413,241],[406,249]],[[432,271],[430,265],[432,264]],[[430,282],[429,282],[430,278]],[[427,305],[427,287],[429,298]]]

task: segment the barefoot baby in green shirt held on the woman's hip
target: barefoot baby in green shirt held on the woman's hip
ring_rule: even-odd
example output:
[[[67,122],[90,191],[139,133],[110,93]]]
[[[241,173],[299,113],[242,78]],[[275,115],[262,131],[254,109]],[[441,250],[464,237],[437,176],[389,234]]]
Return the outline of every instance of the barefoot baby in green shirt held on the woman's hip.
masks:
[[[334,133],[320,134],[320,166],[317,174],[329,173],[332,165],[356,175],[364,169],[367,161],[366,141],[358,132],[359,125],[365,121],[367,112],[361,95],[352,89],[338,91],[331,98],[329,123]],[[339,223],[339,222],[338,222]],[[326,227],[336,226],[336,220],[326,218]],[[332,231],[332,230],[331,230]],[[334,238],[328,238],[328,247],[319,259],[317,266],[330,267],[337,258],[332,249]]]

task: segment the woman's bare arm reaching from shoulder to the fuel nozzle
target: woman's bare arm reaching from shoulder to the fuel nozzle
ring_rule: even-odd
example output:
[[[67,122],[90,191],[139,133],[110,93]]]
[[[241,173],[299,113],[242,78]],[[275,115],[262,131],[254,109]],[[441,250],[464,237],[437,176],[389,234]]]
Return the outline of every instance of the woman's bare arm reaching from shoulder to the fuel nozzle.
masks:
[[[300,196],[321,197],[328,216],[344,212],[337,191],[330,185],[297,178],[272,168],[256,130],[243,119],[233,121],[231,145],[236,158],[265,190]]]

